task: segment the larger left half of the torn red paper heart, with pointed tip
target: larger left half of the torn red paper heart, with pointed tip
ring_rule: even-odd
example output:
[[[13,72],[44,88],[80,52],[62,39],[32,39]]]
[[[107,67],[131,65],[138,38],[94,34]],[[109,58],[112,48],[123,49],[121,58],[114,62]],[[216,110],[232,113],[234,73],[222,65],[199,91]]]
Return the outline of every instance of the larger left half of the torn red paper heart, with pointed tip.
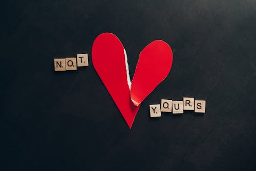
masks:
[[[130,97],[124,47],[121,41],[112,33],[100,34],[93,42],[92,62],[131,129],[139,106],[134,105]]]

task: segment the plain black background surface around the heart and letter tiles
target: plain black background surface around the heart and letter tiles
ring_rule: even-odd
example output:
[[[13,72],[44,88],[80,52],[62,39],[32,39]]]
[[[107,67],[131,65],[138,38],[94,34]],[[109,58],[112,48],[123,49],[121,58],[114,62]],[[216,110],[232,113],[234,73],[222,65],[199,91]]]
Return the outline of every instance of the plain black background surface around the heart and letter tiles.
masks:
[[[255,1],[7,1],[1,3],[2,170],[253,170]],[[167,78],[132,130],[92,66],[97,35],[116,34],[130,75],[139,52],[173,49]],[[54,58],[89,67],[54,72]],[[206,114],[163,113],[161,99],[206,99]]]

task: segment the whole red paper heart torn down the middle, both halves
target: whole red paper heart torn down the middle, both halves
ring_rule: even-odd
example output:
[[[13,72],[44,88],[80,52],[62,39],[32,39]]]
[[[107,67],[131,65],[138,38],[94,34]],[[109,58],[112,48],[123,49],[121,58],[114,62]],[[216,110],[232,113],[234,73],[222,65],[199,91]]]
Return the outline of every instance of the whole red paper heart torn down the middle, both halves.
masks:
[[[131,129],[140,103],[168,75],[173,53],[166,42],[151,42],[140,53],[131,83],[127,56],[121,41],[112,33],[103,33],[93,42],[92,61]]]

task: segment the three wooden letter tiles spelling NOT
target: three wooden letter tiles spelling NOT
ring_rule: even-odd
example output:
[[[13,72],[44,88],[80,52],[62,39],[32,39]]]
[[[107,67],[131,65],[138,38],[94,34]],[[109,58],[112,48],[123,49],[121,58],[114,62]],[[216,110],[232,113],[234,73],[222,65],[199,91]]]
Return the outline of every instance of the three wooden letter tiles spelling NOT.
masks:
[[[54,71],[77,70],[76,67],[86,67],[88,54],[77,54],[75,57],[54,59]]]

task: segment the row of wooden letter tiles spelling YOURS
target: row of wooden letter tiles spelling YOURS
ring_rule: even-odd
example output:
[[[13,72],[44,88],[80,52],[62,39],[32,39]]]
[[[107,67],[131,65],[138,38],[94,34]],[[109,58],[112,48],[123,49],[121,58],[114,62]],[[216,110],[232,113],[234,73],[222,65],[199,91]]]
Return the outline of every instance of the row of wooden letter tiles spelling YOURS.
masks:
[[[183,114],[184,110],[205,113],[205,100],[194,100],[192,97],[184,97],[183,101],[162,99],[160,104],[150,105],[150,117],[160,117],[161,112]]]

